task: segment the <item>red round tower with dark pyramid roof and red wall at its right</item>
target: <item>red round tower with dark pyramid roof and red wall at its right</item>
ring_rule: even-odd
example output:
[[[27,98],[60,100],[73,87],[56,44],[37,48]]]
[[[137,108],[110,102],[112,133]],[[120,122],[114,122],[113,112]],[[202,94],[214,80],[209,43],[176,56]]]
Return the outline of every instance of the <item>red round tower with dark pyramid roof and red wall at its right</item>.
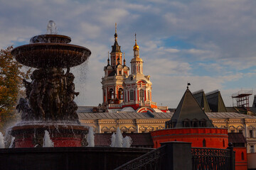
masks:
[[[242,135],[242,134],[241,134]],[[188,87],[181,98],[171,120],[166,122],[166,129],[151,132],[154,147],[160,147],[162,142],[191,142],[191,147],[211,147],[225,149],[228,147],[228,130],[214,128],[213,123],[194,98]],[[235,145],[235,167],[247,169],[247,153],[243,147]]]

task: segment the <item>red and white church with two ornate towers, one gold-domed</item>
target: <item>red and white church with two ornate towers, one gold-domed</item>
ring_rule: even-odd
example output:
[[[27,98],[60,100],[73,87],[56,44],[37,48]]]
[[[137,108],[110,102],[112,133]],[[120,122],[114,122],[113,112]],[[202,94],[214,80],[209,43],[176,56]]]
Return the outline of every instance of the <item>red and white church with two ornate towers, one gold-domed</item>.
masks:
[[[135,34],[133,47],[134,57],[131,60],[131,70],[126,65],[117,42],[117,28],[114,34],[114,45],[107,66],[104,67],[105,76],[102,77],[102,105],[109,109],[126,108],[139,113],[155,112],[157,104],[152,99],[152,83],[150,76],[143,74],[143,60],[139,57],[139,45]],[[131,72],[131,74],[129,74]]]

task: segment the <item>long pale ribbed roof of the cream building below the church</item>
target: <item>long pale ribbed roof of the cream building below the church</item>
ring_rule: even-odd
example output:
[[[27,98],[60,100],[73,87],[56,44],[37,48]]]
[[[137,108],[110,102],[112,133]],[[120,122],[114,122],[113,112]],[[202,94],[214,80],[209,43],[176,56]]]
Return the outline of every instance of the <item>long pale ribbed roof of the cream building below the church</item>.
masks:
[[[154,117],[152,117],[154,115]],[[94,119],[171,119],[174,113],[78,113],[80,120],[94,120]],[[206,113],[208,118],[251,118],[256,119],[256,116],[245,115],[234,112],[209,112]]]

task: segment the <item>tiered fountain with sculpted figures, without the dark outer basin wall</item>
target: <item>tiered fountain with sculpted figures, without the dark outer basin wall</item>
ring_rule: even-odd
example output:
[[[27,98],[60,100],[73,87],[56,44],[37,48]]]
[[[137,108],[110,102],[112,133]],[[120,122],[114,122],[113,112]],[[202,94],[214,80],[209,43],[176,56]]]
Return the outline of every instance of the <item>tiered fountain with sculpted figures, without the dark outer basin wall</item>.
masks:
[[[26,98],[20,98],[16,106],[21,122],[9,130],[15,137],[14,147],[42,147],[45,130],[54,147],[87,145],[88,128],[78,120],[78,106],[73,100],[79,93],[75,92],[70,67],[85,62],[91,52],[69,44],[70,37],[55,33],[55,23],[49,21],[48,34],[36,35],[30,44],[11,51],[18,62],[36,68],[31,82],[23,80]]]

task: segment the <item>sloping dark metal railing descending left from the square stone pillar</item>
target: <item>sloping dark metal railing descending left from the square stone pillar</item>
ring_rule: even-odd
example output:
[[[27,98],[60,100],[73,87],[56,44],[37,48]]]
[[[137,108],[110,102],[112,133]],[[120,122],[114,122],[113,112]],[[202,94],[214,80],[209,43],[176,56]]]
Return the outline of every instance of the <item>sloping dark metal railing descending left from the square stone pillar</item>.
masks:
[[[159,147],[158,149],[152,150],[137,159],[133,159],[122,166],[117,167],[114,170],[136,170],[136,169],[144,169],[144,170],[153,170],[153,169],[162,169],[161,166],[164,164],[164,155],[165,145]]]

